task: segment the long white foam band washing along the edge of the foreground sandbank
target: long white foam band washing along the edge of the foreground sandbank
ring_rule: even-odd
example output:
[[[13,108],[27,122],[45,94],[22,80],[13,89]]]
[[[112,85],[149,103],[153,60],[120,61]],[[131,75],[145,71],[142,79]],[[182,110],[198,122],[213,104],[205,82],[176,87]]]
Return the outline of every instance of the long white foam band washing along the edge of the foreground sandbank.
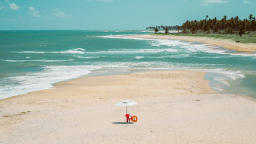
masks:
[[[143,56],[136,56],[142,59]],[[38,91],[53,88],[56,82],[65,81],[87,75],[90,72],[129,72],[130,69],[158,69],[158,70],[193,70],[212,72],[219,76],[216,81],[229,86],[229,82],[238,78],[244,78],[242,72],[233,72],[225,69],[191,69],[182,64],[172,62],[85,62],[85,66],[46,66],[42,72],[27,73],[27,75],[9,77],[9,82],[18,82],[18,86],[1,87],[1,98],[8,98],[18,94],[26,94],[30,91]],[[1,99],[0,98],[0,99]]]

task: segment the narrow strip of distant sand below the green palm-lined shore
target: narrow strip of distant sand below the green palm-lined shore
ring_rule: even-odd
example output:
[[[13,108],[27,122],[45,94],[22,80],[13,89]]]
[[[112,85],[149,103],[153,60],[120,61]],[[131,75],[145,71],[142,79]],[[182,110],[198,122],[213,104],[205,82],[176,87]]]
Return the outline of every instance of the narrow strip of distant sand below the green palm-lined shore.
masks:
[[[171,39],[171,40],[183,40],[190,42],[206,43],[213,46],[223,46],[226,49],[237,50],[241,52],[256,52],[256,44],[250,43],[235,43],[232,40],[213,39],[210,37],[188,37],[188,36],[171,36],[171,35],[131,35],[123,37],[137,37],[137,38],[149,38],[149,39]]]

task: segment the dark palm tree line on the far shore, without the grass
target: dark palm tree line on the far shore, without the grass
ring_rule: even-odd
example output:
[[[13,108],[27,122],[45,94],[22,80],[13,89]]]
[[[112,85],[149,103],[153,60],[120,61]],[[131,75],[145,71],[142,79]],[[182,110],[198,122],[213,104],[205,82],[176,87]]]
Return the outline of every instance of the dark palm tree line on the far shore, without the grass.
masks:
[[[175,26],[176,27],[176,26]],[[153,27],[155,33],[158,32],[159,27]],[[165,27],[165,34],[168,34],[168,27]],[[248,18],[241,20],[238,16],[228,19],[226,15],[220,20],[216,17],[210,19],[208,15],[201,21],[186,21],[181,26],[177,26],[178,33],[182,34],[196,34],[197,32],[203,32],[204,34],[238,34],[242,37],[242,34],[256,31],[255,17],[250,14]]]

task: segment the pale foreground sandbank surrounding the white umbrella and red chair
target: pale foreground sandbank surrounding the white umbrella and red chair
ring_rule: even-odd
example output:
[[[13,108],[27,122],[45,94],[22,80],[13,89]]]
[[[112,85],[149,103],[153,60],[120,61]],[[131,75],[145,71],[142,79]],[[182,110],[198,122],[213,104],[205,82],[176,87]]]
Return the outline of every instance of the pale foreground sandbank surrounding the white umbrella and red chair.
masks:
[[[204,74],[83,77],[1,100],[0,143],[256,143],[255,100],[216,93]]]

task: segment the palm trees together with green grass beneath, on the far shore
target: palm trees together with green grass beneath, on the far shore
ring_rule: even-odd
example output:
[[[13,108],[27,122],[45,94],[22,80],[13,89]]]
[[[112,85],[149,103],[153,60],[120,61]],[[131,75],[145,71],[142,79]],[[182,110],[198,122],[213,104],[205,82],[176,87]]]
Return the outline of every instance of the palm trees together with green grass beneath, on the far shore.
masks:
[[[226,15],[221,20],[216,17],[210,19],[206,15],[206,18],[201,21],[186,21],[182,26],[178,26],[177,30],[178,33],[171,35],[229,39],[237,43],[256,43],[256,19],[252,14],[244,20],[240,20],[238,16],[228,20]],[[166,30],[165,34],[168,34]]]

